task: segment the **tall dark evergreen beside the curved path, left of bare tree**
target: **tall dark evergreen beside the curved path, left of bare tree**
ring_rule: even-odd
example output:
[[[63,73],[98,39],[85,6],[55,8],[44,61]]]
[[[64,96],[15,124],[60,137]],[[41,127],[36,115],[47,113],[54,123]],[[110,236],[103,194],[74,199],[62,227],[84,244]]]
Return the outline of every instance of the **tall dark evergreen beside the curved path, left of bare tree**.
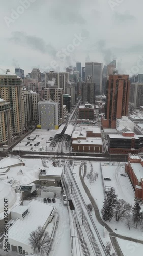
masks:
[[[103,204],[103,208],[101,210],[104,221],[111,221],[115,212],[116,204],[117,194],[115,193],[115,190],[111,187],[111,189],[107,193],[106,199]]]

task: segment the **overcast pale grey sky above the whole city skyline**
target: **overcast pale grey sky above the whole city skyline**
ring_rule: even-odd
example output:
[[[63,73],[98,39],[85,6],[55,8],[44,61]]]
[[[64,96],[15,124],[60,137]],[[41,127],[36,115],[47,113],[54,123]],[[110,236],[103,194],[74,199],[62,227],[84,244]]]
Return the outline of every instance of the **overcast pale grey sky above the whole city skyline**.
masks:
[[[1,73],[15,67],[43,72],[51,63],[65,71],[78,61],[113,59],[120,73],[143,73],[142,0],[25,1],[29,7],[21,8],[24,0],[0,0]]]

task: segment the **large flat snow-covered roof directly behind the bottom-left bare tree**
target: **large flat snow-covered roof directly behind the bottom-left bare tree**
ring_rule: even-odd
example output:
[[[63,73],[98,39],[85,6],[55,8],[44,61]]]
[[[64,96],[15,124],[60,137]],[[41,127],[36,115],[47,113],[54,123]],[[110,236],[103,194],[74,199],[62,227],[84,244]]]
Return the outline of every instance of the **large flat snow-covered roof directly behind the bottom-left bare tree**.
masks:
[[[19,206],[21,207],[21,206]],[[38,226],[44,226],[54,207],[32,200],[28,204],[28,214],[20,220],[19,218],[13,223],[8,230],[9,239],[15,240],[19,243],[29,245],[30,233],[36,230]]]

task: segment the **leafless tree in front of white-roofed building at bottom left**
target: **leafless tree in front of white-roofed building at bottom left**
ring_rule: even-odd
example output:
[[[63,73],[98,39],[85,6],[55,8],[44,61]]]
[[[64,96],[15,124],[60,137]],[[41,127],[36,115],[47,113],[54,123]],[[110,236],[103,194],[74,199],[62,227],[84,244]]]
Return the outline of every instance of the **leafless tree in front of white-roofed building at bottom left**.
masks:
[[[49,248],[50,237],[48,232],[39,226],[37,230],[30,233],[29,241],[34,251],[37,249],[38,252],[44,253]]]

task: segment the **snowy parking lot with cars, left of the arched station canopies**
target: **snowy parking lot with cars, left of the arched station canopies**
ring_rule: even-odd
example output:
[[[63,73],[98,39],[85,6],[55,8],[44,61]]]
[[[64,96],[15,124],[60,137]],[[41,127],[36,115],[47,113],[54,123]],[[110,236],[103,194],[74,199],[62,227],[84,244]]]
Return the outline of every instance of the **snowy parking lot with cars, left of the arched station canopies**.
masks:
[[[30,135],[28,135],[27,137],[25,137],[20,143],[18,143],[13,150],[23,150],[23,151],[40,151],[40,147],[42,147],[42,151],[47,151],[48,150],[48,146],[50,145],[50,141],[49,138],[50,137],[54,137],[56,133],[56,130],[41,130],[41,129],[36,129],[35,131],[33,131]],[[32,140],[28,140],[27,138],[30,137],[30,139],[34,139],[34,141]],[[30,142],[27,146],[27,142]],[[38,146],[36,146],[36,143],[39,143]],[[47,143],[48,142],[48,143]],[[32,148],[32,150],[31,150]]]

